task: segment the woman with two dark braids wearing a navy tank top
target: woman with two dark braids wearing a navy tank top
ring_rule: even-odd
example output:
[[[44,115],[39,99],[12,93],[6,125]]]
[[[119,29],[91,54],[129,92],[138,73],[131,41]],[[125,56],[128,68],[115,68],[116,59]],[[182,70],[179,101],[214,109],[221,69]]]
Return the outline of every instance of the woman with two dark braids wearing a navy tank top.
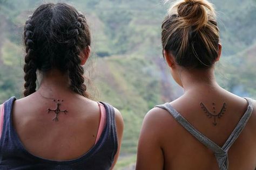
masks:
[[[0,105],[0,169],[113,168],[123,119],[86,93],[84,15],[65,3],[43,4],[26,20],[24,44],[25,97]]]

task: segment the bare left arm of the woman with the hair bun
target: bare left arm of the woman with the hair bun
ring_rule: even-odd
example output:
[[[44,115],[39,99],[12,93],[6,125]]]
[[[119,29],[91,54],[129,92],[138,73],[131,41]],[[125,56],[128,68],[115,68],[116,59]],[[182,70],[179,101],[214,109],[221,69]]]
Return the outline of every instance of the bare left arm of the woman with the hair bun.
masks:
[[[164,155],[160,146],[159,135],[161,120],[157,110],[157,108],[150,110],[144,118],[139,136],[137,170],[164,168]]]

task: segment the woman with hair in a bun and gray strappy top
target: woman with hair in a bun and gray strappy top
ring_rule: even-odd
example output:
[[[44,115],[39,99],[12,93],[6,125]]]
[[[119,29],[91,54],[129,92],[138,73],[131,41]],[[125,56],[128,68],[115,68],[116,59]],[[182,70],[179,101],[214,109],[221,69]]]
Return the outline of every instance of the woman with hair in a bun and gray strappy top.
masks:
[[[145,116],[136,169],[255,169],[256,104],[216,82],[219,39],[213,4],[171,6],[162,24],[163,55],[185,93]]]

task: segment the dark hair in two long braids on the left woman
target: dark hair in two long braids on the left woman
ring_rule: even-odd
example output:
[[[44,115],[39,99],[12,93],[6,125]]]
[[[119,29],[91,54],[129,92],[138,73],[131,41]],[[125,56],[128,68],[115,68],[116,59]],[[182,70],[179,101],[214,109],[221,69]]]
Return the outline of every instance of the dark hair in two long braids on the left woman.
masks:
[[[70,88],[87,97],[81,54],[91,45],[89,26],[84,15],[65,3],[39,6],[26,20],[24,96],[36,91],[37,70],[55,68],[69,74]]]

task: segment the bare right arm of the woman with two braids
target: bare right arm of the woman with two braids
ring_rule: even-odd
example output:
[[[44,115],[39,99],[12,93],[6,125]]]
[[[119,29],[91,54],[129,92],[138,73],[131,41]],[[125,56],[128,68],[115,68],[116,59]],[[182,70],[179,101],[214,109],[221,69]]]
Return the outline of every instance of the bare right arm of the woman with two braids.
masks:
[[[120,153],[120,148],[121,148],[121,143],[122,143],[122,138],[123,138],[123,131],[124,131],[124,121],[123,121],[123,117],[120,113],[119,110],[117,110],[116,108],[114,108],[114,116],[116,119],[116,128],[117,128],[117,139],[118,139],[118,148],[117,148],[117,153],[114,156],[114,162],[113,165],[111,167],[111,169],[114,168],[114,165],[116,165],[119,153]]]

